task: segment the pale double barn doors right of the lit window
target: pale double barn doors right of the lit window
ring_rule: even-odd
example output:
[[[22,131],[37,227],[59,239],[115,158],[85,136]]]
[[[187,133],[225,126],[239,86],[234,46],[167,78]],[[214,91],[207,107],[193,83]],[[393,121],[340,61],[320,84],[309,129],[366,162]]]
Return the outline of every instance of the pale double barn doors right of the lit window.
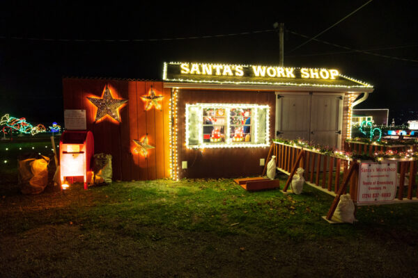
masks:
[[[276,136],[341,148],[342,109],[342,94],[279,92]]]

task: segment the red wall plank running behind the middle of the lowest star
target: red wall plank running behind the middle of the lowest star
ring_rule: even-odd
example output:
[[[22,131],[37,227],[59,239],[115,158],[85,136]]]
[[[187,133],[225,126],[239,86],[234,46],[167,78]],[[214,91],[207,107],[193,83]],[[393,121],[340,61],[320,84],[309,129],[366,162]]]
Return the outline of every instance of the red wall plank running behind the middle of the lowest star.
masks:
[[[145,113],[145,104],[144,101],[140,98],[141,96],[146,95],[146,84],[145,81],[137,82],[137,130],[138,137],[136,140],[142,140],[146,136],[146,113]],[[149,142],[148,142],[149,143]],[[139,180],[145,181],[148,179],[148,165],[147,159],[141,154],[135,154],[138,156],[138,165],[139,165]]]

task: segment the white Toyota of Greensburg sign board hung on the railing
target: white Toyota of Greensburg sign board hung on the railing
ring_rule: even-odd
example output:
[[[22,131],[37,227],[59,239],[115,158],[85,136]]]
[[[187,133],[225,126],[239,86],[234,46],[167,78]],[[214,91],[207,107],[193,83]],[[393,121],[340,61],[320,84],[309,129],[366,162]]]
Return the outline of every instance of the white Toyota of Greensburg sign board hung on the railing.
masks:
[[[396,197],[396,162],[360,163],[357,203],[392,201]]]

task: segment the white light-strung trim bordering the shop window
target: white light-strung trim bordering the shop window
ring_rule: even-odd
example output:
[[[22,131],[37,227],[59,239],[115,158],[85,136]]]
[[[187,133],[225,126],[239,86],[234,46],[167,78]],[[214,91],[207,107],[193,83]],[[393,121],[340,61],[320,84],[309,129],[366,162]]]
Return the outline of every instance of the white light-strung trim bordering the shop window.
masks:
[[[199,144],[198,145],[189,145],[189,107],[190,106],[199,106]],[[231,108],[265,108],[265,140],[264,143],[238,143],[231,142],[229,138],[230,133],[230,110]],[[206,143],[203,142],[203,108],[225,108],[226,109],[226,142],[219,143]],[[254,138],[258,136],[258,129],[260,129],[260,123],[258,122],[257,109],[254,109]],[[270,147],[270,106],[268,105],[258,105],[258,104],[186,104],[185,107],[186,119],[185,119],[185,145],[187,149],[206,149],[206,148],[233,148],[233,147]]]

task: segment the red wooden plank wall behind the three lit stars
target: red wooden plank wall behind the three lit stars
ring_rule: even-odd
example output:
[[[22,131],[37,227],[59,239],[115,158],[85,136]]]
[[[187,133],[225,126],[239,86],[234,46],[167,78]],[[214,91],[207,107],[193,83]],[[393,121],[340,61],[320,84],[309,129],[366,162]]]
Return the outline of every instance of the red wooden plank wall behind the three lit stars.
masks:
[[[105,86],[111,95],[127,99],[119,109],[121,122],[106,116],[95,120],[96,108],[87,97],[102,97]],[[153,86],[155,95],[164,95],[162,110],[154,107],[145,111],[145,102],[140,98],[148,95]],[[169,102],[171,89],[163,88],[162,82],[128,81],[118,79],[63,79],[64,109],[85,109],[87,130],[93,132],[95,154],[112,155],[114,180],[148,180],[170,177],[169,165]],[[141,140],[148,134],[148,157],[135,154],[132,139]]]

